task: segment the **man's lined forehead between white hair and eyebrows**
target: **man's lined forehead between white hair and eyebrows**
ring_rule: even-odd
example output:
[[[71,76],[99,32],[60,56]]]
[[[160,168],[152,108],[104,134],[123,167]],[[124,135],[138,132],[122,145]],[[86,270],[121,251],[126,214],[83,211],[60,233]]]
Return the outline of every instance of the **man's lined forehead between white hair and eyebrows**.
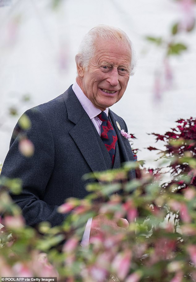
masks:
[[[108,62],[117,65],[130,65],[130,46],[124,42],[97,39],[95,42],[95,56],[97,63]]]

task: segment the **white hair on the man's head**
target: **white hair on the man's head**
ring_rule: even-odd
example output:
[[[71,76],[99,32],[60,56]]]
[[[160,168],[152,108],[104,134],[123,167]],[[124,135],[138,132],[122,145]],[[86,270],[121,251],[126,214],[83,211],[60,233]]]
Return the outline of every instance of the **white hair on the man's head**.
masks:
[[[128,35],[120,28],[113,27],[106,24],[100,24],[93,27],[82,39],[79,45],[79,57],[81,65],[87,69],[91,58],[95,55],[95,42],[97,39],[102,38],[105,40],[114,40],[116,43],[124,43],[130,47],[131,50],[131,63],[130,75],[134,74],[136,56],[133,44]]]

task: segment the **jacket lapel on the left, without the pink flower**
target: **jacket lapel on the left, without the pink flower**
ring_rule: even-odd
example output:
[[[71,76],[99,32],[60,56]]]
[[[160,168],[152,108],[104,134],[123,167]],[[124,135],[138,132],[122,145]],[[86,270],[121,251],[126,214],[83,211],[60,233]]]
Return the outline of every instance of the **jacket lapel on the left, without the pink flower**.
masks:
[[[69,131],[92,171],[106,170],[106,163],[98,143],[93,123],[84,111],[72,87],[63,94],[68,119],[75,125]],[[97,133],[98,134],[98,133]]]

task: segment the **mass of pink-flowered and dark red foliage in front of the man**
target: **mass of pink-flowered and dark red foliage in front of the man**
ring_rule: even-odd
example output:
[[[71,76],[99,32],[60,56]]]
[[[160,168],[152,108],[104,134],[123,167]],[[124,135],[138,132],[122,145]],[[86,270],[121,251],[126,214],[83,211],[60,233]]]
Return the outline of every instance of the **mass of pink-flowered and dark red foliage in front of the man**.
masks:
[[[145,169],[143,162],[85,175],[97,183],[87,186],[86,198],[67,199],[59,207],[59,212],[70,212],[61,226],[25,226],[19,208],[2,191],[1,275],[23,276],[28,271],[59,281],[101,282],[112,273],[125,282],[196,281],[195,134],[194,118],[178,120],[164,135],[153,133],[165,142],[159,153],[170,161],[167,183],[162,183],[160,169]],[[137,179],[130,181],[133,168]],[[17,185],[6,183],[10,188]],[[104,225],[86,249],[80,244],[85,223],[98,214],[115,221],[127,218],[129,228],[114,231]]]

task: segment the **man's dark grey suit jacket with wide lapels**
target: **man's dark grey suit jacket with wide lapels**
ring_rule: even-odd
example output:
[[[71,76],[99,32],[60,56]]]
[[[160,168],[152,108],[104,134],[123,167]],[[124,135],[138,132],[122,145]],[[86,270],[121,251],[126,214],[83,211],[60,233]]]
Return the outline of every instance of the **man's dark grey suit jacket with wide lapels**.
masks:
[[[54,100],[27,112],[31,127],[25,132],[35,146],[32,157],[24,157],[19,149],[19,124],[11,138],[10,149],[2,167],[2,176],[20,178],[23,191],[12,195],[21,207],[28,225],[49,221],[62,223],[66,215],[57,212],[68,197],[87,195],[82,176],[92,171],[111,168],[109,154],[92,121],[70,86]],[[133,161],[129,141],[121,136],[116,121],[127,132],[124,120],[109,110],[109,118],[118,137],[114,168],[120,162]],[[134,171],[131,172],[134,178]]]

